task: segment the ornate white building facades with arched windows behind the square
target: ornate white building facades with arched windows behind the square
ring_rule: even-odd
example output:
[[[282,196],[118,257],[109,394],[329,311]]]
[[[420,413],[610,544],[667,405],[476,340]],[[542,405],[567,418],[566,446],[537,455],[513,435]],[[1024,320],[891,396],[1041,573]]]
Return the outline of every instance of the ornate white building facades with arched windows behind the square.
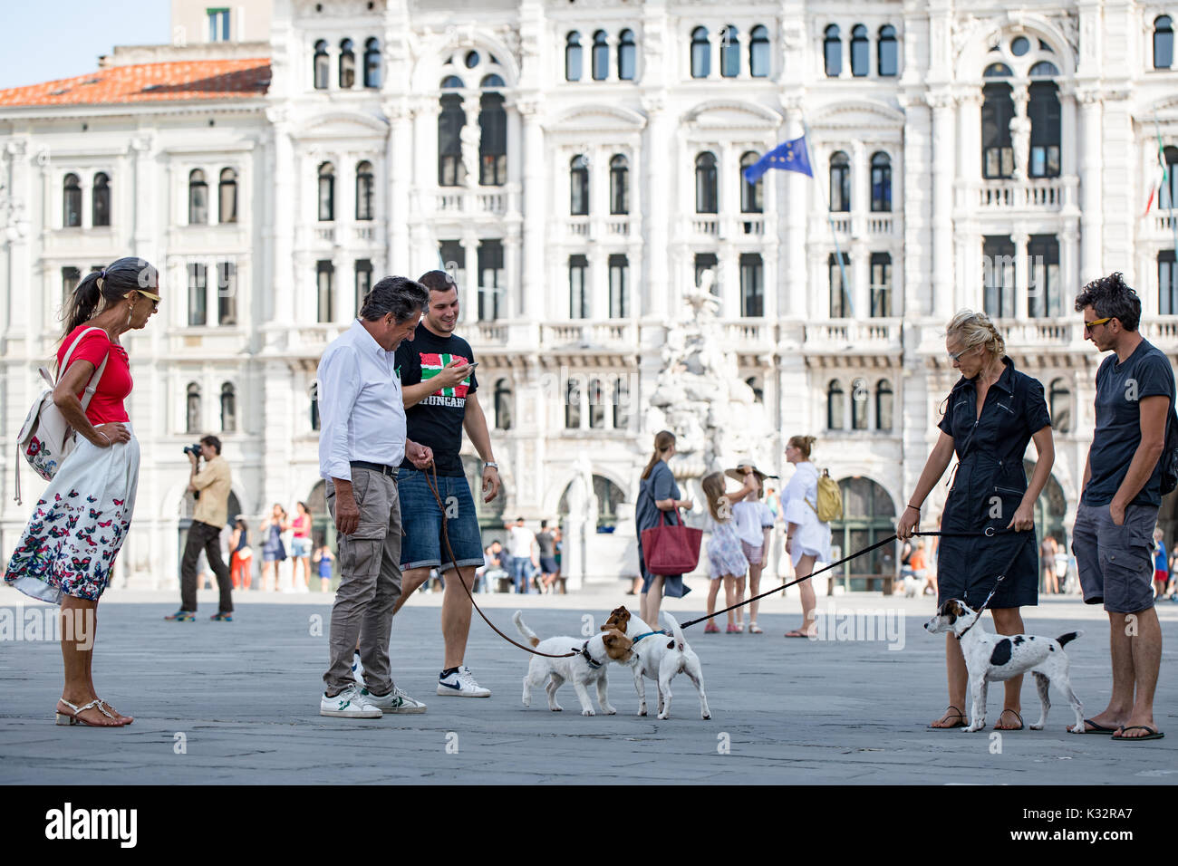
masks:
[[[1039,522],[1060,537],[1099,362],[1077,289],[1123,271],[1143,333],[1178,350],[1174,211],[1158,207],[1176,204],[1173,171],[1146,212],[1159,146],[1178,161],[1178,6],[266,13],[269,41],[119,49],[93,77],[0,91],[5,556],[28,508],[12,502],[13,437],[64,291],[126,254],[164,272],[159,315],[126,339],[144,465],[121,563],[145,586],[176,580],[180,449],[205,432],[225,443],[236,510],[305,500],[327,531],[315,369],[388,273],[455,272],[505,482],[484,524],[560,517],[574,587],[636,570],[628,517],[659,429],[646,406],[696,286],[719,297],[720,348],[756,395],[720,423],[760,431],[753,456],[782,475],[785,441],[815,435],[815,463],[845,480],[836,542],[852,549],[886,534],[935,439],[955,310],[998,317],[1047,389],[1057,458]],[[742,180],[803,132],[813,180]]]

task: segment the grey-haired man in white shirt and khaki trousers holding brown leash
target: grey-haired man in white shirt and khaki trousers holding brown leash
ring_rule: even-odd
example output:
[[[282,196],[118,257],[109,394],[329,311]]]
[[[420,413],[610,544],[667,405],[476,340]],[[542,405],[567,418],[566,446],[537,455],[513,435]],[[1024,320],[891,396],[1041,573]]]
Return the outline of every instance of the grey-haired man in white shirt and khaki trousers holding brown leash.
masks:
[[[331,608],[331,667],[319,714],[379,719],[424,713],[392,681],[389,633],[401,596],[401,503],[397,467],[424,469],[434,455],[405,437],[405,409],[393,352],[417,328],[424,286],[385,277],[360,305],[359,318],[319,361],[319,475],[339,530],[342,579]],[[364,683],[352,676],[359,641]]]

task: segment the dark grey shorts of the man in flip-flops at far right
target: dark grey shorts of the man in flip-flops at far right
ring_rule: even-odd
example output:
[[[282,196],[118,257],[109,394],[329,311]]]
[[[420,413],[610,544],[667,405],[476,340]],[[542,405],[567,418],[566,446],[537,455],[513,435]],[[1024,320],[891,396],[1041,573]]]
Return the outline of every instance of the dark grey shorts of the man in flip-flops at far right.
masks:
[[[1086,604],[1104,602],[1105,610],[1136,614],[1153,607],[1153,528],[1157,505],[1130,505],[1125,523],[1112,522],[1108,505],[1085,505],[1076,511],[1072,553]]]

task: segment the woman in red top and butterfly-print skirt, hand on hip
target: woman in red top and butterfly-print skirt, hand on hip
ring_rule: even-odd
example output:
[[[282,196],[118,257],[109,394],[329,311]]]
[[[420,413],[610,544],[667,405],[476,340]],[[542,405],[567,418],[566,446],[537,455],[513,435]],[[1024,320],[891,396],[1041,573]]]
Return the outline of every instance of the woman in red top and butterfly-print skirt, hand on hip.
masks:
[[[58,366],[67,353],[70,362],[59,369],[53,403],[75,431],[77,448],[38,501],[5,574],[22,593],[61,604],[65,688],[58,725],[133,721],[98,698],[91,660],[98,599],[131,525],[139,484],[139,443],[123,404],[131,394],[131,365],[119,337],[143,329],[159,300],[155,269],[120,258],[88,273],[66,304]],[[104,359],[106,368],[92,383]],[[84,411],[87,384],[97,390]]]

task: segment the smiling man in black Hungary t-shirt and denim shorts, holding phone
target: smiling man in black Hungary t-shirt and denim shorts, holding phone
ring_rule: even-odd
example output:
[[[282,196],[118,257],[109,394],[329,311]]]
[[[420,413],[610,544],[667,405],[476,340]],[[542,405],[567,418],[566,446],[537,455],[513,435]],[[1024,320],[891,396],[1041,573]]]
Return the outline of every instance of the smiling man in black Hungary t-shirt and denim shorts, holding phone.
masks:
[[[478,516],[463,470],[462,431],[465,429],[482,457],[483,502],[499,491],[498,467],[491,452],[487,417],[475,392],[475,353],[470,344],[455,336],[458,322],[458,287],[444,271],[430,271],[421,280],[430,300],[411,341],[397,349],[397,370],[405,402],[408,436],[434,450],[438,495],[445,509],[446,533],[457,560],[461,580],[469,589],[475,569],[483,566],[483,542]],[[475,682],[463,663],[470,634],[471,606],[466,591],[454,580],[455,562],[442,540],[442,511],[426,484],[426,471],[408,460],[397,472],[397,493],[404,538],[401,548],[402,593],[393,615],[437,568],[445,580],[442,599],[442,636],[445,660],[438,675],[438,694],[459,698],[489,698],[490,689]]]

